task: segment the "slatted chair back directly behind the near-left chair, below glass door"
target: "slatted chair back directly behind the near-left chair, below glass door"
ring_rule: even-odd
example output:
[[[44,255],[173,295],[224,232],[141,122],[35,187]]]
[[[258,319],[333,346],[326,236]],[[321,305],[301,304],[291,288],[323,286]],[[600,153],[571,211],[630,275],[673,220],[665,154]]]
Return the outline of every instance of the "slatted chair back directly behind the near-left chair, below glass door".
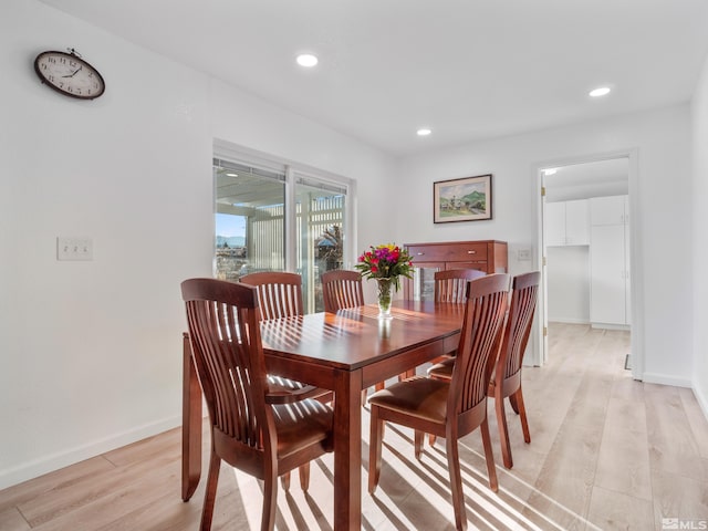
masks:
[[[302,277],[284,271],[246,274],[240,282],[257,288],[261,320],[302,315]]]

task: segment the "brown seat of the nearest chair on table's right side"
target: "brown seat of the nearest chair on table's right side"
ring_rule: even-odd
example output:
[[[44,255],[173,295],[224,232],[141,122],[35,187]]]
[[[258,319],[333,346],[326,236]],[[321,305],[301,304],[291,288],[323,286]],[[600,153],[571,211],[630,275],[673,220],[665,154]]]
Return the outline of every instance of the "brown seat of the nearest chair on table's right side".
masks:
[[[448,382],[414,376],[377,391],[368,397],[368,403],[423,420],[445,424],[449,388]]]

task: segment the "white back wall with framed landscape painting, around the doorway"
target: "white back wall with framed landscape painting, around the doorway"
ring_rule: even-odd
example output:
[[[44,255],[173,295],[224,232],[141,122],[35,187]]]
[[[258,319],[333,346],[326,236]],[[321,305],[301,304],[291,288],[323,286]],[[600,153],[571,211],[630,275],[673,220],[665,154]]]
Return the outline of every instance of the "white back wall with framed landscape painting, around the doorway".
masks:
[[[537,267],[520,262],[519,247],[538,258],[538,177],[541,165],[587,160],[636,148],[638,177],[631,180],[633,296],[643,301],[633,329],[644,352],[642,378],[690,386],[693,367],[693,263],[690,115],[688,105],[490,139],[407,157],[406,177],[416,216],[398,225],[400,239],[508,240],[512,274]],[[555,163],[555,164],[554,164]],[[433,181],[493,174],[493,219],[433,225]],[[670,200],[667,200],[670,197]],[[635,295],[636,291],[636,295]],[[637,322],[644,314],[644,323]]]

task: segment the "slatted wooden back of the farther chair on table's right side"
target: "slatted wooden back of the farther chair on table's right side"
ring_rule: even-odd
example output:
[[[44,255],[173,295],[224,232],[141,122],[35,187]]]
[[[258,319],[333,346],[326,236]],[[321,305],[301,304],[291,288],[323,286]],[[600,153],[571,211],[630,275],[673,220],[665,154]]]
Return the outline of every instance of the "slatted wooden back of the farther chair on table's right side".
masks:
[[[499,357],[499,366],[503,367],[503,378],[510,378],[521,371],[523,353],[527,350],[533,323],[540,282],[541,273],[539,271],[513,278],[509,317]]]

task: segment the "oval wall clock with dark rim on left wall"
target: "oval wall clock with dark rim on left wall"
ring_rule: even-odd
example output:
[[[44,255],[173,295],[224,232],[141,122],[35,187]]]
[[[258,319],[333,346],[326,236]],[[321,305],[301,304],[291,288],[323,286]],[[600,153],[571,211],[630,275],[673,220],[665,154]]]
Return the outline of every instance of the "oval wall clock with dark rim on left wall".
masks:
[[[93,100],[105,90],[98,71],[72,53],[42,52],[34,60],[34,71],[43,83],[67,96]]]

